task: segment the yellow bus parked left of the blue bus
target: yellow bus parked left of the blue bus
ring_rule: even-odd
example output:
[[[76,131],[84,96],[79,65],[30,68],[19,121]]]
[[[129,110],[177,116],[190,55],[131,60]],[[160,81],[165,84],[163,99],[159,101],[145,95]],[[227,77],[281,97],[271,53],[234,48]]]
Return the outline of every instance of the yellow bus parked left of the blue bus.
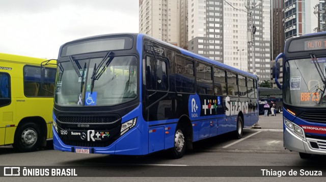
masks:
[[[44,61],[0,53],[0,145],[30,152],[52,138],[56,66]]]

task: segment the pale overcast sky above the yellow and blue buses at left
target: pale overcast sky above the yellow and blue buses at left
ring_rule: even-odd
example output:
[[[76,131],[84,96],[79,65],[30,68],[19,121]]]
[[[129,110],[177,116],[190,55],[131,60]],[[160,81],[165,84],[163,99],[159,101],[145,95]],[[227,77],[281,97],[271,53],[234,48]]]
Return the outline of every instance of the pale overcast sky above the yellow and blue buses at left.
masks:
[[[138,0],[0,0],[0,52],[58,58],[62,44],[139,32]]]

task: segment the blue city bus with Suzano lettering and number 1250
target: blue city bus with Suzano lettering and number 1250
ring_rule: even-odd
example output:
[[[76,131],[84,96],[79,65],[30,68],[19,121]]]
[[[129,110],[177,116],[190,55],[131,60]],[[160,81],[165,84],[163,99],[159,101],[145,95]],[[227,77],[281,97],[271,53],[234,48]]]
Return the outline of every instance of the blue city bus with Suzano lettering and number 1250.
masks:
[[[257,76],[145,34],[68,42],[57,63],[55,150],[181,158],[258,122]]]

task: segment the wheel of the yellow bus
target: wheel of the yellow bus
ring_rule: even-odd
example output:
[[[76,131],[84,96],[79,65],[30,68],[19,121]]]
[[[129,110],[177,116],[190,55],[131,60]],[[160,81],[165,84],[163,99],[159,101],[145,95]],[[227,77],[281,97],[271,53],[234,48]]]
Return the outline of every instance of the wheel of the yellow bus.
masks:
[[[40,128],[35,123],[24,123],[15,132],[13,147],[19,152],[32,152],[41,145]]]

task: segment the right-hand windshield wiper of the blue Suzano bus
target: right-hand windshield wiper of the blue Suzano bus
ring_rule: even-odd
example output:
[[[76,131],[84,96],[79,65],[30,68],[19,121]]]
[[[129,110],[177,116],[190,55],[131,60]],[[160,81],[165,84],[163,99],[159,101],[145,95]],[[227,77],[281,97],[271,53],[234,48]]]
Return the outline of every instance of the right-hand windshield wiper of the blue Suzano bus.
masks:
[[[91,94],[93,94],[93,88],[94,88],[94,82],[95,82],[95,80],[98,80],[102,76],[103,72],[105,71],[105,69],[107,68],[107,66],[111,63],[111,61],[114,58],[114,56],[111,56],[110,57],[110,54],[111,53],[112,53],[112,51],[109,51],[109,52],[106,53],[106,55],[101,60],[101,62],[99,63],[99,65],[98,65],[97,68],[96,68],[96,63],[94,65],[93,74],[92,74],[92,77],[91,77],[91,79],[92,79],[92,83],[91,83]],[[108,58],[108,60],[104,64],[104,62],[105,62],[105,60],[107,58]]]

